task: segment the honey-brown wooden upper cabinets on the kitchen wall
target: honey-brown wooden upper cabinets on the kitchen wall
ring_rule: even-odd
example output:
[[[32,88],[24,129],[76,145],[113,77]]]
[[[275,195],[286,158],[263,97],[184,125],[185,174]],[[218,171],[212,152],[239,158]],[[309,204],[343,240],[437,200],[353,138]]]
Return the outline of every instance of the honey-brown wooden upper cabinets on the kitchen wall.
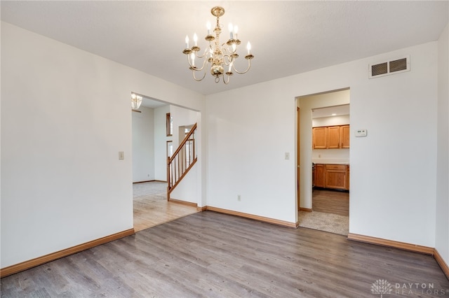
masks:
[[[349,132],[349,125],[314,127],[312,129],[312,148],[349,148]]]

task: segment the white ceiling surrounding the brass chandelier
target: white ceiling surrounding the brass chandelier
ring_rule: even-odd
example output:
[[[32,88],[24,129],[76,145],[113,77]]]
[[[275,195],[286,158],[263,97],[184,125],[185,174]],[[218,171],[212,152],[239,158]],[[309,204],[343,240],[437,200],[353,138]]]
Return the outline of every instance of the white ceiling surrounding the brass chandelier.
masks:
[[[1,20],[93,52],[177,85],[213,94],[313,69],[436,41],[449,1],[1,1]],[[241,62],[251,42],[250,71],[215,84],[192,79],[185,36],[220,17],[239,26]],[[192,44],[192,43],[191,43]],[[243,63],[244,64],[244,63]],[[240,69],[244,68],[243,64]]]

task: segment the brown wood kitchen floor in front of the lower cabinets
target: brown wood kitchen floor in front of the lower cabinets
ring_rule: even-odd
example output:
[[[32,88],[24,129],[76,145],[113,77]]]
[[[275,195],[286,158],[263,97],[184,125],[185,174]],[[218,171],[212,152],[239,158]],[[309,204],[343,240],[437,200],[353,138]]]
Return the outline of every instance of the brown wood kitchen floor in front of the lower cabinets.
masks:
[[[312,192],[312,210],[349,216],[349,192],[315,189]]]

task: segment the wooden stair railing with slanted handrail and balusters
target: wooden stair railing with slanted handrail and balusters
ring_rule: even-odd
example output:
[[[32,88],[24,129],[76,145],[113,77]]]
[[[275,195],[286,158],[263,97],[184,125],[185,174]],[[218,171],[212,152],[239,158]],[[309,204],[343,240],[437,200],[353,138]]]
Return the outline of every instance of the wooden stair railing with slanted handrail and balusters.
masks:
[[[167,201],[170,194],[196,163],[196,123],[171,157],[167,157]]]

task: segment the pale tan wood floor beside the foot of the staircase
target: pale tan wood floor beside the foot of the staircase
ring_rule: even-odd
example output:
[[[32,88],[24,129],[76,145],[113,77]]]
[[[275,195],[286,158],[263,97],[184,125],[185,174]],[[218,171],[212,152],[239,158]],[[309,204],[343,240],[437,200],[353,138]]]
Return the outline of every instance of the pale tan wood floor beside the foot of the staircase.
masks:
[[[198,212],[195,206],[167,201],[166,185],[159,182],[154,184],[158,185],[155,187],[161,187],[159,193],[133,199],[135,232]]]

